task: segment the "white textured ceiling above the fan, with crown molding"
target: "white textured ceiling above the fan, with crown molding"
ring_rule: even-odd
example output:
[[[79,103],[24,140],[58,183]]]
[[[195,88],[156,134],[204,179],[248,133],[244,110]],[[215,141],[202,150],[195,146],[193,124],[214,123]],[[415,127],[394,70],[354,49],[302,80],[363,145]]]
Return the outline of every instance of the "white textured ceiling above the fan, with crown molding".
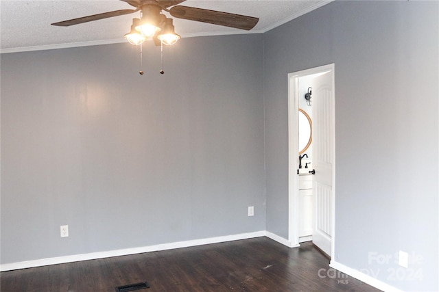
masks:
[[[293,18],[329,3],[317,1],[192,1],[181,5],[206,8],[259,17],[259,23],[250,33],[265,32]],[[128,3],[119,0],[75,0],[75,1],[0,1],[0,49],[29,51],[56,47],[122,42],[123,35],[130,30],[133,17],[139,12],[71,27],[55,27],[50,23],[98,14],[120,9],[132,9]],[[164,12],[167,14],[167,12]],[[169,14],[167,14],[169,16]],[[198,23],[174,18],[176,33],[182,38],[220,34],[248,34],[248,31]]]

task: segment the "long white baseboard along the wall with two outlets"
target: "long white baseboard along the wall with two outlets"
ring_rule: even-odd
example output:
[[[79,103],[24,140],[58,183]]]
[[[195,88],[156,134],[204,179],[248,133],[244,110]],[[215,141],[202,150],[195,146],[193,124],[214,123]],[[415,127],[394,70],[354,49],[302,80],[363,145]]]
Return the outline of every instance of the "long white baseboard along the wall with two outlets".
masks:
[[[11,271],[14,269],[27,269],[29,267],[42,267],[45,265],[56,265],[60,263],[72,263],[77,261],[88,261],[97,258],[109,258],[112,256],[126,256],[129,254],[141,254],[143,252],[156,252],[159,250],[173,250],[175,248],[189,248],[191,246],[221,243],[241,239],[250,239],[265,236],[265,230],[254,233],[241,233],[238,235],[227,235],[222,237],[211,237],[205,239],[194,239],[189,241],[178,241],[173,243],[163,243],[157,245],[144,246],[140,248],[126,248],[123,250],[109,250],[106,252],[91,252],[88,254],[74,254],[72,256],[58,256],[56,258],[41,258],[33,261],[23,261],[18,263],[6,263],[0,265],[0,271]]]

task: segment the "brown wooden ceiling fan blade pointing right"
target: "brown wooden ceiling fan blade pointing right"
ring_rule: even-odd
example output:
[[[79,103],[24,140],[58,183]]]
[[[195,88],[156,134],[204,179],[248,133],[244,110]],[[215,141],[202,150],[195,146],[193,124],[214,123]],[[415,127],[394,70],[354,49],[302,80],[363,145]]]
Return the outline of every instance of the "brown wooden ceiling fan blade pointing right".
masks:
[[[245,30],[252,29],[259,21],[259,18],[257,17],[193,8],[188,6],[174,6],[169,10],[169,12],[176,18],[183,18],[190,21],[200,21],[202,23],[211,23],[213,25],[223,25],[225,27],[234,27]]]

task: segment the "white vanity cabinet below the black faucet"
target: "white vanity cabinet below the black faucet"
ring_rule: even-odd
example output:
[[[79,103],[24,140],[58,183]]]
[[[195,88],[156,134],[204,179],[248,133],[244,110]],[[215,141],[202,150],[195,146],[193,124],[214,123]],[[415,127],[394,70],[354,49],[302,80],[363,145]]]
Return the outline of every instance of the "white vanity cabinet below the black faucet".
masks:
[[[299,175],[299,242],[312,240],[313,175]]]

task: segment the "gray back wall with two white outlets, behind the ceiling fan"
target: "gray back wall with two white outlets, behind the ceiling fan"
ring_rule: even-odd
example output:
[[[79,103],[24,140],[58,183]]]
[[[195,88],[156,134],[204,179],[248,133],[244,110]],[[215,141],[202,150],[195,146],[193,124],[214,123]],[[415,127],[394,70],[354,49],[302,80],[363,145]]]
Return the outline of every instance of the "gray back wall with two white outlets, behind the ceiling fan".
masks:
[[[2,54],[1,263],[265,230],[262,44]]]

